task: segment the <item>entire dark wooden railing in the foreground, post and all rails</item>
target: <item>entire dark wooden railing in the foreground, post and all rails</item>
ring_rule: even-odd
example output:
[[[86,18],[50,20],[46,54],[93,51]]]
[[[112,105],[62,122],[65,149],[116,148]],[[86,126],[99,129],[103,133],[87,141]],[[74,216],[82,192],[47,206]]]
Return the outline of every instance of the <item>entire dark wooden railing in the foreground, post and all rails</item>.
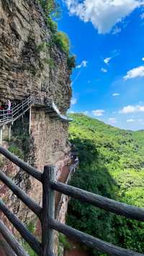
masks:
[[[125,203],[119,203],[109,198],[104,198],[100,195],[94,195],[93,193],[86,192],[84,190],[72,187],[70,185],[63,184],[55,180],[56,169],[53,166],[45,166],[44,172],[41,173],[34,167],[18,159],[6,149],[0,146],[0,153],[6,156],[9,160],[17,164],[20,168],[24,169],[29,175],[32,175],[35,179],[42,182],[42,207],[38,206],[34,200],[29,198],[17,185],[12,182],[3,172],[0,172],[0,180],[9,187],[18,198],[22,200],[40,219],[42,225],[42,242],[38,242],[37,239],[30,233],[24,226],[24,224],[17,219],[14,214],[9,211],[4,202],[0,200],[0,209],[12,222],[14,227],[19,231],[24,240],[30,244],[30,247],[40,256],[53,256],[54,250],[54,230],[65,234],[70,239],[76,240],[81,244],[85,244],[87,247],[92,247],[96,250],[102,251],[107,255],[117,256],[142,256],[138,252],[132,252],[130,250],[117,247],[114,244],[104,242],[101,239],[91,237],[89,234],[85,234],[81,231],[71,228],[66,224],[60,224],[55,220],[55,190],[64,195],[71,196],[80,200],[83,203],[89,203],[93,206],[102,208],[106,211],[116,213],[117,215],[125,216],[129,219],[136,219],[138,221],[144,221],[144,208],[138,208],[135,206],[129,206]],[[6,239],[6,242],[12,247],[14,252],[18,256],[27,255],[18,244],[13,235],[6,229],[4,224],[0,221],[1,234]]]

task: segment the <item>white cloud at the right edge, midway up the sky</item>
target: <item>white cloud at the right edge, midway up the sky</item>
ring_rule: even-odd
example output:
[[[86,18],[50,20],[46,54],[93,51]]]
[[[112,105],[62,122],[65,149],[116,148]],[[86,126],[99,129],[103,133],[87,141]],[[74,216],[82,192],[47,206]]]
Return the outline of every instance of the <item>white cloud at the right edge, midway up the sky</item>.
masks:
[[[124,80],[134,79],[134,78],[143,77],[143,76],[144,76],[144,66],[138,66],[138,68],[127,71],[127,75],[124,76],[123,79]]]

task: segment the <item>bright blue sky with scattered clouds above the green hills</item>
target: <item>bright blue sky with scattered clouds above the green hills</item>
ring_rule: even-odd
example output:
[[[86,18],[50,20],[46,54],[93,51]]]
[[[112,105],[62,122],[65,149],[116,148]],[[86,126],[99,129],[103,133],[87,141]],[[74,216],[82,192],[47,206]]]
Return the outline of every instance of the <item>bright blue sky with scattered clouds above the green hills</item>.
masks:
[[[144,129],[143,0],[66,0],[58,29],[68,34],[76,69],[69,112]]]

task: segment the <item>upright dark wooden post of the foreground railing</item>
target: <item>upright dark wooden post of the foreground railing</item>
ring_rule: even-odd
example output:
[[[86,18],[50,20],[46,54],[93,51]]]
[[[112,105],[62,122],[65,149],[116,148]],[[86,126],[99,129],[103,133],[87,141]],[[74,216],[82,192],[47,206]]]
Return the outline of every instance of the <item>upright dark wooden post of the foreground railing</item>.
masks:
[[[43,198],[42,198],[42,256],[54,256],[54,230],[50,228],[51,219],[55,218],[55,190],[50,183],[55,180],[54,166],[45,166],[43,172]]]

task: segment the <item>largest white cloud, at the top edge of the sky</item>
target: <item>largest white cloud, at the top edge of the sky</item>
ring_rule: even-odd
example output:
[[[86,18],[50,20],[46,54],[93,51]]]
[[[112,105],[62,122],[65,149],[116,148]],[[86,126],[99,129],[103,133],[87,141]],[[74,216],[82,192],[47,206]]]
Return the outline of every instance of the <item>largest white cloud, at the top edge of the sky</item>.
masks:
[[[109,33],[132,11],[143,5],[143,0],[65,0],[71,15],[91,22],[99,34]]]

